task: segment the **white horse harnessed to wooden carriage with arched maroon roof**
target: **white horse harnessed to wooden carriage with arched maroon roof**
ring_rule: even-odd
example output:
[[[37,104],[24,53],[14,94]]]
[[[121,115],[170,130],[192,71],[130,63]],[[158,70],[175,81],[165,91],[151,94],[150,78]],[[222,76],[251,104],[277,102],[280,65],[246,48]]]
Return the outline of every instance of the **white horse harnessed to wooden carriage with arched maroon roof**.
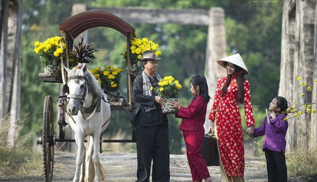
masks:
[[[57,138],[54,133],[53,103],[52,98],[49,95],[45,97],[44,101],[42,136],[37,137],[37,144],[40,144],[43,147],[44,180],[46,182],[52,181],[54,146],[57,142],[75,142],[76,139],[76,143],[79,146],[78,155],[82,157],[85,153],[83,142],[87,142],[87,140],[89,142],[89,137],[85,140],[87,132],[88,135],[91,136],[96,135],[97,133],[97,135],[99,135],[98,138],[96,139],[96,137],[93,137],[94,146],[91,145],[92,143],[88,146],[88,150],[93,150],[94,153],[91,153],[91,156],[95,157],[95,159],[98,157],[95,156],[96,152],[100,151],[100,153],[102,153],[102,142],[135,142],[135,126],[132,126],[131,140],[102,140],[101,138],[101,132],[109,125],[109,120],[112,116],[111,112],[115,112],[117,109],[124,109],[131,113],[132,116],[136,114],[136,108],[132,97],[134,75],[131,74],[130,51],[127,51],[127,95],[112,95],[118,97],[115,101],[109,102],[107,100],[107,95],[111,94],[110,92],[106,92],[107,94],[100,93],[100,89],[96,85],[96,80],[91,77],[91,73],[87,71],[86,66],[77,70],[68,69],[68,54],[69,50],[73,49],[74,39],[84,31],[94,27],[108,27],[123,34],[126,37],[127,50],[130,49],[131,40],[136,37],[134,28],[127,22],[113,14],[99,10],[85,11],[71,16],[60,23],[59,30],[64,35],[66,46],[66,56],[64,58],[61,56],[61,78],[49,77],[44,73],[40,73],[39,75],[42,81],[59,83],[60,88],[63,87],[63,89],[59,89],[60,96],[58,98],[60,117],[58,121],[59,127],[57,128],[59,128],[59,137]],[[64,67],[65,69],[63,69]],[[103,119],[100,120],[100,118]],[[100,120],[100,122],[98,123],[97,121],[96,126],[93,127],[85,126],[87,124],[84,122],[93,120]],[[65,139],[65,126],[67,124],[70,124],[73,130],[75,130],[75,139]],[[98,130],[98,132],[92,131],[94,129]],[[84,132],[86,132],[86,134],[79,137],[78,135],[81,135],[83,131],[80,133],[76,130],[85,130]],[[99,148],[96,144],[99,145]],[[83,148],[80,145],[82,145]],[[79,178],[79,167],[80,166],[77,164],[74,180]]]

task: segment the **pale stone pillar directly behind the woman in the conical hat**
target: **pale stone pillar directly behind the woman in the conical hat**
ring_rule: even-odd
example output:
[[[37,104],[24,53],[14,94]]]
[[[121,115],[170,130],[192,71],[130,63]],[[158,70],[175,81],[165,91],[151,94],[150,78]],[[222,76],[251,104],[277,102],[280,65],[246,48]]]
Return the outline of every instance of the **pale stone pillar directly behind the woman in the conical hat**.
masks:
[[[214,102],[218,78],[225,76],[226,71],[217,60],[226,57],[226,35],[224,24],[224,10],[222,8],[211,8],[209,11],[208,39],[206,48],[205,77],[208,83],[209,95],[212,99],[207,106],[205,120],[205,131],[208,132],[208,115]]]

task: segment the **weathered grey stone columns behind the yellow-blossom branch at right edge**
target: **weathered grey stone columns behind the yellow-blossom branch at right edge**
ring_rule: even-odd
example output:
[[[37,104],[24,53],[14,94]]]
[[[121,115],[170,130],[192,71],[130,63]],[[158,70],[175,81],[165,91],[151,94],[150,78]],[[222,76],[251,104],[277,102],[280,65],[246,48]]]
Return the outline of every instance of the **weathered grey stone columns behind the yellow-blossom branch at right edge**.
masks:
[[[278,95],[294,103],[317,79],[317,8],[316,0],[284,0],[281,68]],[[302,87],[297,76],[306,82]],[[317,84],[305,94],[300,103],[317,101]],[[317,109],[313,105],[312,110]],[[288,149],[317,146],[317,114],[303,114],[289,119],[287,132]]]

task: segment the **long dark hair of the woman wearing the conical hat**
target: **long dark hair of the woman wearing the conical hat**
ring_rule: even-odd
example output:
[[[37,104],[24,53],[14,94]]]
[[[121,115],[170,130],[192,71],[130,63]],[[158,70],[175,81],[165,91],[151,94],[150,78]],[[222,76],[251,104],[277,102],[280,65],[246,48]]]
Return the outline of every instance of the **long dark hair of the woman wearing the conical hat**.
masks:
[[[227,66],[227,64],[228,64],[228,62],[225,62],[226,66]],[[234,66],[235,66],[235,70],[236,70],[235,73],[238,73],[238,72],[243,70],[241,67],[239,67],[235,64],[234,64]],[[232,78],[232,75],[228,74],[226,83],[224,84],[224,86],[222,87],[222,90],[221,90],[221,96],[224,96],[227,93],[227,89],[230,85],[231,78]],[[236,76],[236,80],[237,80],[237,84],[238,84],[238,103],[243,104],[243,102],[244,102],[244,89],[243,89],[244,74],[243,73],[238,74]]]

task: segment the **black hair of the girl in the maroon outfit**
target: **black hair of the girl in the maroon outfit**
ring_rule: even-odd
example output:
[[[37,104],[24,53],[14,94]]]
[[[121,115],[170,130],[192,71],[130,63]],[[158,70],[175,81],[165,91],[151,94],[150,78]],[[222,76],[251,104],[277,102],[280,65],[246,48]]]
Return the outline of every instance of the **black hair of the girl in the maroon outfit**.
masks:
[[[208,85],[207,85],[207,80],[205,76],[203,75],[193,76],[190,79],[189,83],[191,83],[194,88],[196,88],[196,86],[199,86],[199,96],[202,96],[204,98],[204,102],[208,103],[210,100],[210,96],[208,94],[209,91],[208,91]]]

